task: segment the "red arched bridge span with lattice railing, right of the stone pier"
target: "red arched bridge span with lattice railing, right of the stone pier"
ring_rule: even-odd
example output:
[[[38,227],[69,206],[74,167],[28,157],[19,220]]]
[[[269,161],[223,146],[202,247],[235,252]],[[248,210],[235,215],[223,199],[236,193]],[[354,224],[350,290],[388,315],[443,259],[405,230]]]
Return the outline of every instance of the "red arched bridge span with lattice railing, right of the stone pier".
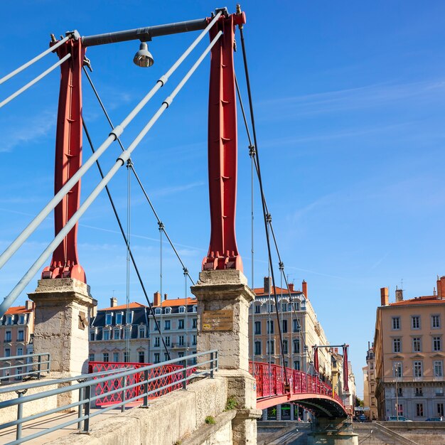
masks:
[[[250,363],[250,372],[257,380],[257,409],[277,404],[296,403],[309,409],[316,417],[347,417],[345,406],[331,387],[306,372],[269,363]],[[253,372],[254,371],[254,372]]]

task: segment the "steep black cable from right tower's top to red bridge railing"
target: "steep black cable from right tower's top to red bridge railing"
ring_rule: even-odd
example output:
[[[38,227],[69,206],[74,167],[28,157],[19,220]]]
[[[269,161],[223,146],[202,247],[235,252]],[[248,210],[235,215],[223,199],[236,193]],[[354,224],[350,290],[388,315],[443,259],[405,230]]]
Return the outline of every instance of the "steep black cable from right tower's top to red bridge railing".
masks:
[[[264,229],[266,230],[267,252],[269,255],[270,272],[272,275],[272,285],[274,286],[275,312],[277,313],[279,343],[281,345],[281,353],[282,353],[282,367],[284,368],[285,357],[284,357],[284,352],[283,352],[282,326],[280,326],[280,323],[279,323],[277,289],[275,286],[274,267],[273,267],[273,263],[272,263],[272,252],[271,252],[271,248],[270,248],[269,232],[267,231],[267,224],[269,223],[270,220],[272,220],[272,217],[269,213],[267,213],[266,205],[264,203],[264,191],[263,191],[263,185],[262,185],[261,169],[259,168],[257,132],[255,129],[255,119],[254,119],[253,104],[252,104],[252,92],[250,90],[249,69],[247,68],[247,55],[246,55],[246,49],[245,49],[244,33],[243,33],[241,27],[240,27],[240,36],[241,36],[241,46],[242,46],[242,59],[244,61],[244,69],[245,69],[245,77],[246,77],[246,85],[247,85],[247,95],[249,97],[250,119],[252,122],[254,148],[256,151],[255,156],[257,156],[257,173],[258,173],[257,176],[258,176],[258,182],[259,182],[259,191],[263,197],[263,199],[261,201],[262,201],[262,210],[263,210],[263,217],[264,217]],[[287,379],[286,372],[284,372],[284,380],[285,380],[286,386],[289,385],[289,381]]]

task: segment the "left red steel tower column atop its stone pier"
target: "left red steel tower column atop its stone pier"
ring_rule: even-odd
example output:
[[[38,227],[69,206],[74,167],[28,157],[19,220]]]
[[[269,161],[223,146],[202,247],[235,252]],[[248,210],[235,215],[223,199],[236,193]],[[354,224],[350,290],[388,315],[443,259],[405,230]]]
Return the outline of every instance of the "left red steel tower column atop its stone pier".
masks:
[[[80,39],[71,38],[57,50],[59,58],[71,57],[60,65],[60,93],[55,136],[54,192],[73,176],[82,165],[82,63],[85,48]],[[80,181],[64,196],[54,209],[55,235],[74,215],[80,204]],[[42,278],[75,278],[87,282],[77,258],[77,224],[53,252],[49,267]]]

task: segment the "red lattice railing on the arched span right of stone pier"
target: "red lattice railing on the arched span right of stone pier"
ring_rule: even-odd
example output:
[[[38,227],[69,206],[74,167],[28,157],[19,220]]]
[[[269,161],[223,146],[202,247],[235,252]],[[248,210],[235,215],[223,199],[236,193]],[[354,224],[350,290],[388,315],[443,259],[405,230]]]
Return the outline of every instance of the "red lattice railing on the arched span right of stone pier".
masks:
[[[252,362],[249,363],[250,373],[253,374]],[[306,374],[299,370],[285,368],[289,389],[286,388],[284,371],[280,365],[269,363],[254,363],[254,377],[257,380],[257,399],[274,397],[277,395],[311,393],[333,397],[342,406],[343,402],[338,394],[332,391],[332,387],[326,385],[318,377]]]

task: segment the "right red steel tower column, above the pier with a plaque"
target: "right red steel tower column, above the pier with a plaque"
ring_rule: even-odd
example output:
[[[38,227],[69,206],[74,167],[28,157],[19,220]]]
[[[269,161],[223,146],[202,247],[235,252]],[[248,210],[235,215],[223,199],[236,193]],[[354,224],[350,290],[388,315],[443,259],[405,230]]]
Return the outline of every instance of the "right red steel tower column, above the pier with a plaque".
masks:
[[[208,102],[208,183],[210,196],[210,246],[203,270],[238,269],[242,261],[235,236],[237,195],[237,110],[233,44],[235,26],[245,15],[222,16],[210,30],[223,36],[210,53]]]

